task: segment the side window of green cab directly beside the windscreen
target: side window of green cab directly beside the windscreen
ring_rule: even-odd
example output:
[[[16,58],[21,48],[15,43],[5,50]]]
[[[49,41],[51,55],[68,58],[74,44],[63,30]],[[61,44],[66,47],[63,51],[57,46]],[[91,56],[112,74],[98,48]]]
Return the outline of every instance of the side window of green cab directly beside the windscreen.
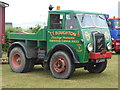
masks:
[[[78,29],[74,14],[66,14],[65,29]]]

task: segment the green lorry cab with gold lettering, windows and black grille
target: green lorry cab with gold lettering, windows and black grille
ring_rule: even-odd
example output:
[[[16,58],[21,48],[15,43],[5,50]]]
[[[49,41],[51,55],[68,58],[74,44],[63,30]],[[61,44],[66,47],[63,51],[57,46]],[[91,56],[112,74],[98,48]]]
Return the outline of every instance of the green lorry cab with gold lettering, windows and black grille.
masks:
[[[108,26],[102,14],[59,10],[50,11],[48,18],[48,51],[54,44],[66,43],[74,47],[79,56],[84,57],[79,59],[85,63],[88,62],[90,53],[100,54],[111,44]]]

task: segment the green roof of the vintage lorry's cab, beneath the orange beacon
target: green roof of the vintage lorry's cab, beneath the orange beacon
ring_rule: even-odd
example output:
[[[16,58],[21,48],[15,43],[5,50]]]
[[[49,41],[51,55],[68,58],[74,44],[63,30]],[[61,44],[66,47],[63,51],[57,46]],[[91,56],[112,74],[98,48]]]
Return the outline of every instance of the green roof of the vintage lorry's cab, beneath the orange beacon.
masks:
[[[96,13],[96,12],[85,12],[85,11],[77,11],[77,10],[53,10],[49,11],[50,14],[55,13],[81,13],[81,14],[97,14],[97,15],[103,15],[102,13]]]

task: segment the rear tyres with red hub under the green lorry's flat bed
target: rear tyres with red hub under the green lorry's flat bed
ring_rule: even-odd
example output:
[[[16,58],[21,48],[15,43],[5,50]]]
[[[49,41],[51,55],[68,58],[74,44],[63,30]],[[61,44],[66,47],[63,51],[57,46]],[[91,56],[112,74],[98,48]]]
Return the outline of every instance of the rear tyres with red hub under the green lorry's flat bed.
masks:
[[[29,72],[34,67],[34,62],[25,57],[20,47],[15,47],[9,55],[9,64],[11,69],[16,73]]]

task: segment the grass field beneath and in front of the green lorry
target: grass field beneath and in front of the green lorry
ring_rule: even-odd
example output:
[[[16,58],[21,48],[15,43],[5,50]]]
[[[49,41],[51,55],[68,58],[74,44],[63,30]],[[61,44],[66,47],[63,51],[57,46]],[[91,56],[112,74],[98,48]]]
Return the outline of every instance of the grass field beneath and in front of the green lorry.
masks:
[[[8,64],[2,65],[2,88],[118,88],[118,55],[108,60],[101,74],[77,69],[67,80],[54,78],[50,71],[35,66],[29,73],[14,73]]]

